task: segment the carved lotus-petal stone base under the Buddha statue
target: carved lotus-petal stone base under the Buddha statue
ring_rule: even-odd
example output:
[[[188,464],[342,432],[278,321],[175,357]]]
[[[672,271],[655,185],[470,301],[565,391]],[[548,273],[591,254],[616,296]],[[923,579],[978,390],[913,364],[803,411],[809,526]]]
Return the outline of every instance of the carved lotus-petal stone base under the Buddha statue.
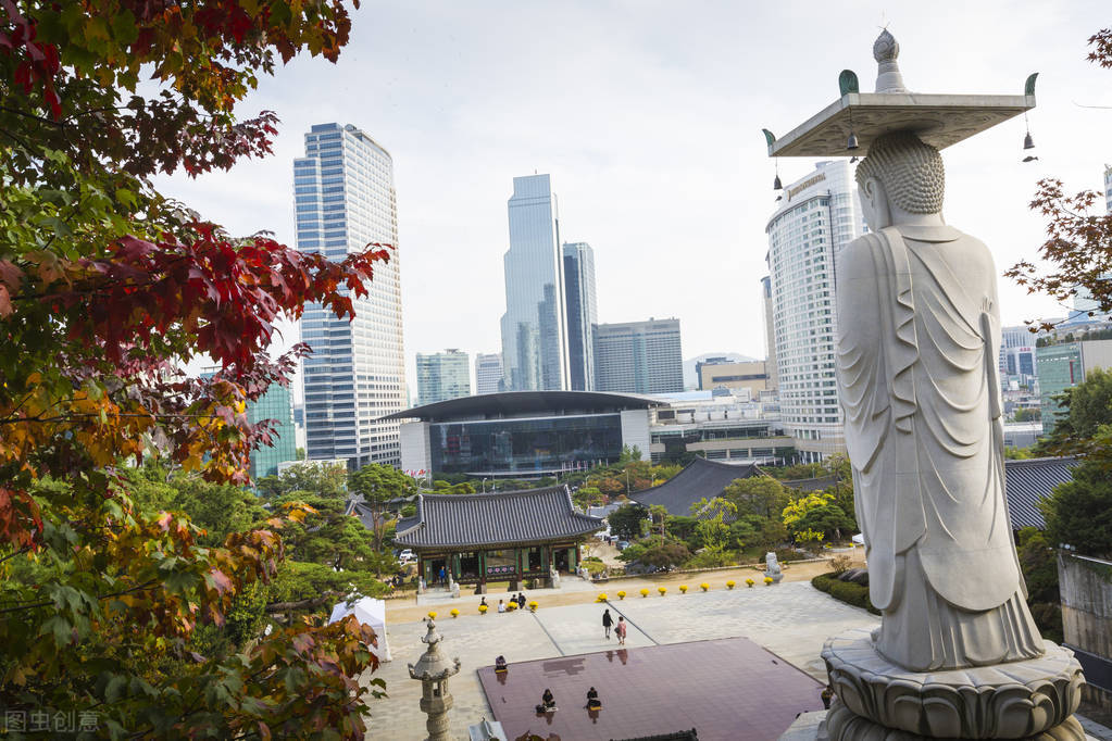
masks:
[[[1040,739],[1083,741],[1071,715],[1085,680],[1073,652],[1050,641],[1037,659],[913,672],[877,653],[871,631],[826,641],[823,660],[837,699],[832,741]]]

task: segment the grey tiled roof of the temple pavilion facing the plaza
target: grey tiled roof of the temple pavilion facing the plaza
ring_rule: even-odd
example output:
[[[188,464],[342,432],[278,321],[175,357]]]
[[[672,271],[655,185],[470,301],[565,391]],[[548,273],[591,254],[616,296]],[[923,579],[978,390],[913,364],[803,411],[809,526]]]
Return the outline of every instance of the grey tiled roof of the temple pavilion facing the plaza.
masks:
[[[606,523],[576,512],[567,487],[486,494],[420,494],[394,542],[414,550],[493,548],[579,538]]]

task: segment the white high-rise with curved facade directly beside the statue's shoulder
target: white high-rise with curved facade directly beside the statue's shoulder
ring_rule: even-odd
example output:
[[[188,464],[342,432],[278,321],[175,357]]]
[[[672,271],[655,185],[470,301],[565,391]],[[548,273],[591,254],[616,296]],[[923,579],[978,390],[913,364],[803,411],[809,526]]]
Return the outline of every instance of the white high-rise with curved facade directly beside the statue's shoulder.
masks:
[[[862,230],[846,160],[818,162],[785,188],[765,229],[780,410],[805,461],[845,452],[834,377],[834,262]]]

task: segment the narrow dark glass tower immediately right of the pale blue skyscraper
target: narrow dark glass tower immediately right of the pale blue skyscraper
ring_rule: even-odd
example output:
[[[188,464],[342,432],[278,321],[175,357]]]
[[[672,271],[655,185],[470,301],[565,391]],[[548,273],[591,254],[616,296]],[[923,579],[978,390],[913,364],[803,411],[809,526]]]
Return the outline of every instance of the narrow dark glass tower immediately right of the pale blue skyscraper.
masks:
[[[595,388],[594,328],[598,323],[595,251],[586,242],[564,243],[564,301],[567,306],[567,363],[570,389]]]

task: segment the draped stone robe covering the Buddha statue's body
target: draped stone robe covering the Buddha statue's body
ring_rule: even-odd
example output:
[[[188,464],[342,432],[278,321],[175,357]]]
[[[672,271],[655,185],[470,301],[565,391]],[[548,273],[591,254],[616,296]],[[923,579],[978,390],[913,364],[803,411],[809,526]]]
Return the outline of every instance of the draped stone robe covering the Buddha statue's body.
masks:
[[[887,228],[851,243],[836,277],[877,650],[914,671],[1041,654],[1004,499],[987,248],[951,227]]]

